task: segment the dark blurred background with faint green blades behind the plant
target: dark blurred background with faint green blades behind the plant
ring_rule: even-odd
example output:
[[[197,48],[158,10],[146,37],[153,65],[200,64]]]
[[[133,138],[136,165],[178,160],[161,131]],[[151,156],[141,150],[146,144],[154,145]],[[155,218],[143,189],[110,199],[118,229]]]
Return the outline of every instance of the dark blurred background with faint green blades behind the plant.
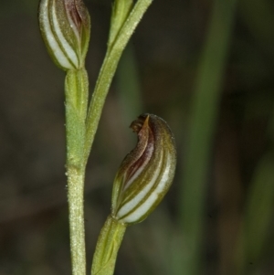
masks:
[[[110,0],[85,1],[93,89]],[[37,0],[0,3],[0,275],[69,274],[64,73]],[[274,274],[274,2],[155,0],[122,56],[87,169],[88,274],[111,185],[142,112],[168,122],[178,164],[153,215],[129,227],[116,275]]]

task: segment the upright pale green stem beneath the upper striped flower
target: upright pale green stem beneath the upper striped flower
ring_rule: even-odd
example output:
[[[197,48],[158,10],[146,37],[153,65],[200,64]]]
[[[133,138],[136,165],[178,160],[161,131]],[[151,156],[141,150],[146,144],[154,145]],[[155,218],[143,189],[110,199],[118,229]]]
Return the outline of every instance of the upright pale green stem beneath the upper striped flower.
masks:
[[[83,162],[89,82],[85,69],[69,70],[65,81],[68,216],[73,275],[86,274]]]

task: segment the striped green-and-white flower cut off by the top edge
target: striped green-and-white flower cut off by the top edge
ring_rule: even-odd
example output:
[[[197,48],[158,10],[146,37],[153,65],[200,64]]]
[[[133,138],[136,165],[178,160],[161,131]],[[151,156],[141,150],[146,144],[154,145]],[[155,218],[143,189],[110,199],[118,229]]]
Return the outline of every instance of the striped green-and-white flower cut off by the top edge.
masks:
[[[49,55],[61,69],[84,66],[90,16],[82,0],[41,0],[39,25]]]

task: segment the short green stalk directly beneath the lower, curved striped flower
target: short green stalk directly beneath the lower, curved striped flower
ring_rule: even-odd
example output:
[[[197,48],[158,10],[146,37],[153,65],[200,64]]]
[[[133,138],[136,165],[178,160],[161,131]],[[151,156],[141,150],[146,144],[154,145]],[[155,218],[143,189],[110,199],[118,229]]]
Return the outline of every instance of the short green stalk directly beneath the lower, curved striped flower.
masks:
[[[126,226],[109,216],[100,231],[93,256],[91,275],[112,275]]]

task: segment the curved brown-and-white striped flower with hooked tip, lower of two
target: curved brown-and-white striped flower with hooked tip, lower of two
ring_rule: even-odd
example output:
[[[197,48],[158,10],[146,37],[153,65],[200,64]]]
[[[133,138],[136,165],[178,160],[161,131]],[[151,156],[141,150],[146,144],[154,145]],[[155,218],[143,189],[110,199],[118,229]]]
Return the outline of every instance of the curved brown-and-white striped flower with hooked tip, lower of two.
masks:
[[[174,136],[166,122],[142,114],[132,122],[136,147],[122,161],[114,179],[112,217],[125,224],[141,222],[162,201],[174,179]]]

